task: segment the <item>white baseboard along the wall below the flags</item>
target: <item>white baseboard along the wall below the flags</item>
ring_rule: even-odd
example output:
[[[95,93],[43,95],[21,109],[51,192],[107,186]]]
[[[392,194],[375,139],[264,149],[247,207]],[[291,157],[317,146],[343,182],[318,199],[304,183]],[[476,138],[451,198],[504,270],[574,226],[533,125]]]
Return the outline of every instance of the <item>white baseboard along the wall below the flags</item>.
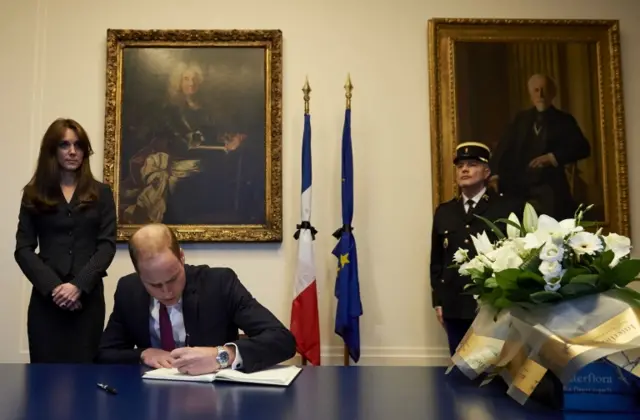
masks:
[[[343,347],[322,347],[321,364],[323,366],[342,366],[344,364]],[[292,359],[300,363],[300,356]],[[362,347],[360,361],[352,366],[447,366],[450,362],[447,347]]]

